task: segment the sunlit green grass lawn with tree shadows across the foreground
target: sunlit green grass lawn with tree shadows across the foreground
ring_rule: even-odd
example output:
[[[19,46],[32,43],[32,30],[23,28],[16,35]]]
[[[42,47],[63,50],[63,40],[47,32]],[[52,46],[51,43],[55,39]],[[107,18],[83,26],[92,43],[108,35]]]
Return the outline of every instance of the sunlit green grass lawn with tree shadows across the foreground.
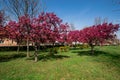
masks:
[[[36,63],[21,54],[0,52],[0,80],[120,80],[120,46],[42,53]]]

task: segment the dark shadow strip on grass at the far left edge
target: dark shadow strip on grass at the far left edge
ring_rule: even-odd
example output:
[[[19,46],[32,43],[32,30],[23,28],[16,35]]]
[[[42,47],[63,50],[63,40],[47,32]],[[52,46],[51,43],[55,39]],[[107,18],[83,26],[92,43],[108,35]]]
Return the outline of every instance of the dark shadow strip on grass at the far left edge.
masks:
[[[7,62],[7,61],[14,60],[17,58],[23,58],[25,56],[26,54],[24,53],[11,54],[11,55],[0,55],[0,62]]]

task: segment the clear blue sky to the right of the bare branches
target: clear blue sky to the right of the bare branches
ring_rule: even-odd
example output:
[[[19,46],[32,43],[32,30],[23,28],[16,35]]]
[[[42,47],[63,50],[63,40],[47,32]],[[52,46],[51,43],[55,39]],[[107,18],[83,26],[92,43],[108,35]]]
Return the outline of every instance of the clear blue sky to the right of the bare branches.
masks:
[[[120,23],[119,0],[45,0],[46,11],[54,12],[63,22],[74,24],[76,29],[94,25],[96,17]],[[119,34],[118,34],[119,35]],[[120,35],[119,35],[120,37]]]

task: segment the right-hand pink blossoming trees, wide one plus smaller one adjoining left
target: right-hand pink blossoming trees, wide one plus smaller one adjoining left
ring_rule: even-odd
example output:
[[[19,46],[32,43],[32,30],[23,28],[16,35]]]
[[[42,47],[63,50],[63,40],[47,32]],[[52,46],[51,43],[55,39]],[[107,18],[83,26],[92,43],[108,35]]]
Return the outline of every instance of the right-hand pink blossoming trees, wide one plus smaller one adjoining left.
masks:
[[[113,40],[116,37],[115,32],[119,28],[120,26],[118,24],[103,23],[84,28],[80,31],[70,31],[68,37],[71,42],[87,43],[91,47],[91,53],[93,54],[94,46],[102,45],[107,40]]]

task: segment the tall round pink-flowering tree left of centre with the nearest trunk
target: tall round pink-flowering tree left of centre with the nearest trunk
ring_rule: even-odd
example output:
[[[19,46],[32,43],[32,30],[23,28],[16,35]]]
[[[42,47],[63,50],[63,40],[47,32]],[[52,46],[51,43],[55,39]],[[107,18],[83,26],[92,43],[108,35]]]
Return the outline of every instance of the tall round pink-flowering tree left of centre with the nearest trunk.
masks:
[[[41,13],[38,18],[35,18],[32,23],[32,30],[30,32],[31,41],[35,45],[35,62],[37,58],[37,47],[44,43],[54,44],[59,36],[59,27],[61,19],[54,13]]]

